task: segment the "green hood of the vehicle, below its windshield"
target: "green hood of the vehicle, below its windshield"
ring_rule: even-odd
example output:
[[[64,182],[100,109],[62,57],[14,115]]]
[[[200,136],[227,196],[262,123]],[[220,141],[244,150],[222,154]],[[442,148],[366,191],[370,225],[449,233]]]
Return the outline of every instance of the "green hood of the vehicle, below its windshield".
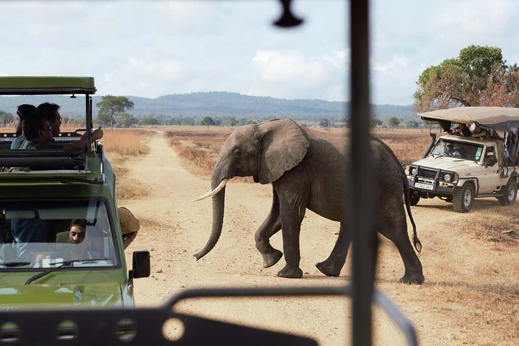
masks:
[[[118,282],[0,285],[0,311],[13,308],[122,307]]]

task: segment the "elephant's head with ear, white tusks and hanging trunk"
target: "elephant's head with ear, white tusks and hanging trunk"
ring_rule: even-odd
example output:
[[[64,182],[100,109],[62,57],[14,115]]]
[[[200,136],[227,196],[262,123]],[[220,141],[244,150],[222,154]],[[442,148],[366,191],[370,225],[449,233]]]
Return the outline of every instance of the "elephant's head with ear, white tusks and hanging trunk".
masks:
[[[222,233],[228,179],[252,176],[256,183],[272,183],[303,160],[309,145],[305,131],[290,119],[240,126],[229,135],[213,168],[211,191],[195,200],[212,197],[213,202],[211,236],[194,255],[197,260],[212,250]]]

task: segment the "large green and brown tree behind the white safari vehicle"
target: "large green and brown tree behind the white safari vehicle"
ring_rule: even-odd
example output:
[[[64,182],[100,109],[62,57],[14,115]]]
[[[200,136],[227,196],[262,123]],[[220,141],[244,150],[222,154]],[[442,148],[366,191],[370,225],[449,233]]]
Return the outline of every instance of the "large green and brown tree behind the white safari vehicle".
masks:
[[[418,77],[415,109],[454,106],[519,106],[519,68],[501,48],[469,46],[454,59],[426,68]]]

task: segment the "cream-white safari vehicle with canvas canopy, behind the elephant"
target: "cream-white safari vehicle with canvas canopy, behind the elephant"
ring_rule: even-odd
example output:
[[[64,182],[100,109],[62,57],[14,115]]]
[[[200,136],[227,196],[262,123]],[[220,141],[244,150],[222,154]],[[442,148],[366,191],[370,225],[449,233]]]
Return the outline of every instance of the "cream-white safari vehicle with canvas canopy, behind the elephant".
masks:
[[[452,202],[460,213],[470,211],[474,198],[495,197],[510,205],[517,196],[519,108],[457,107],[418,113],[440,123],[447,135],[432,140],[424,157],[405,163],[411,205],[421,198]],[[454,124],[453,124],[454,123]],[[452,134],[451,126],[474,123],[492,136]],[[493,131],[491,131],[493,130]]]

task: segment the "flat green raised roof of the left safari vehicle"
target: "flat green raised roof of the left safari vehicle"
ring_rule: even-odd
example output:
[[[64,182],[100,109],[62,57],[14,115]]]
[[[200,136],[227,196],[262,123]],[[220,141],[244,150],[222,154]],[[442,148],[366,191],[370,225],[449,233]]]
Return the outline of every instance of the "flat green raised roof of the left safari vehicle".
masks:
[[[0,77],[0,95],[94,94],[93,77]]]

